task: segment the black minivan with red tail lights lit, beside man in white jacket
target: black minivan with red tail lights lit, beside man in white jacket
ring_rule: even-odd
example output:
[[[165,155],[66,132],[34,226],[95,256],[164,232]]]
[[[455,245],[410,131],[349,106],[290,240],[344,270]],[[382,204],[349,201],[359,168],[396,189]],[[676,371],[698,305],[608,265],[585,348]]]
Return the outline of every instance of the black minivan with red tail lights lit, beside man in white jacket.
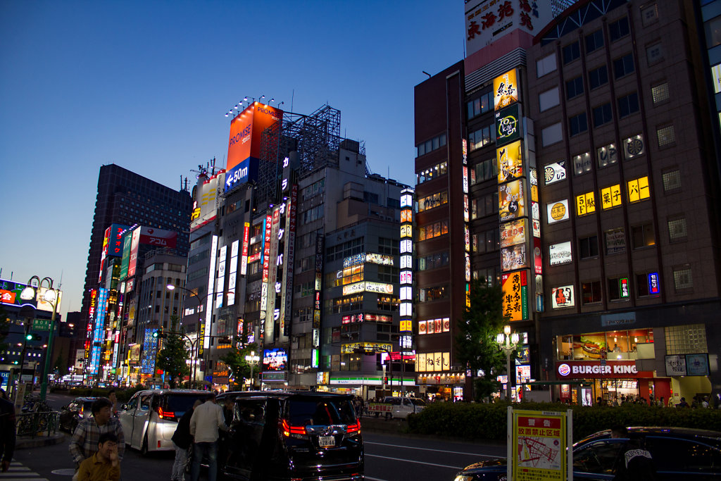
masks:
[[[218,469],[229,479],[363,480],[361,423],[353,396],[309,391],[226,392],[235,400]]]

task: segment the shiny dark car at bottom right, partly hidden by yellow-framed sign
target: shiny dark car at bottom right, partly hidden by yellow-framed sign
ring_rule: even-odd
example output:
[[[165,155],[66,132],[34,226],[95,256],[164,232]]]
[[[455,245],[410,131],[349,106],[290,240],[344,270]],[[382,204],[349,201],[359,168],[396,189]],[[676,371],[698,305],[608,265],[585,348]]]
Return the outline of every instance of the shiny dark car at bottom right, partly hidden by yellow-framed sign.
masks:
[[[721,479],[721,433],[690,428],[629,428],[628,438],[599,431],[573,445],[573,478],[614,479],[629,438],[650,452],[657,480]],[[503,458],[488,459],[466,467],[455,481],[505,481],[506,467]]]

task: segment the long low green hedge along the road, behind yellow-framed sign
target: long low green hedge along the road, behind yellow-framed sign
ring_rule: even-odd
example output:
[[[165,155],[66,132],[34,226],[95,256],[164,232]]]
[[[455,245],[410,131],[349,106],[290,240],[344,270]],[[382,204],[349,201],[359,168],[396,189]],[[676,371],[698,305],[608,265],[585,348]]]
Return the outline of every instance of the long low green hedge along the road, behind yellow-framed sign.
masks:
[[[579,441],[597,431],[625,426],[667,426],[721,431],[721,410],[673,408],[647,405],[567,406],[550,402],[523,402],[518,410],[573,411],[573,439]],[[508,404],[438,402],[420,413],[409,415],[407,432],[454,436],[466,439],[505,441]]]

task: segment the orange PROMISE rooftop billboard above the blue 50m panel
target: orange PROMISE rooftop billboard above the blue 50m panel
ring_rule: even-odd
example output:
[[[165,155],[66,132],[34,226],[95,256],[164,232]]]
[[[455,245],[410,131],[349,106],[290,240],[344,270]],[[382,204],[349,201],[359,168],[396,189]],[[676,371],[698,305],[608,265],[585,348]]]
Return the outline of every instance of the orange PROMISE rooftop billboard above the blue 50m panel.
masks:
[[[255,102],[238,115],[230,124],[228,140],[228,164],[226,170],[248,157],[260,158],[260,136],[266,128],[283,118],[283,110]]]

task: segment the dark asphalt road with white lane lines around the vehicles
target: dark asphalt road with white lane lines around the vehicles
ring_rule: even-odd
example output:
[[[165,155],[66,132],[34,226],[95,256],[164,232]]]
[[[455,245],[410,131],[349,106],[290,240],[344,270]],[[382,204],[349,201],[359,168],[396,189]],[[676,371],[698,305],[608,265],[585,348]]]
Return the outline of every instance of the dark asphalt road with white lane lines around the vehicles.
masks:
[[[56,408],[68,404],[72,397],[48,394],[48,403]],[[55,446],[15,451],[15,467],[23,469],[23,480],[70,480],[73,463],[68,453],[68,440]],[[397,436],[363,432],[366,444],[366,480],[452,481],[454,475],[468,464],[488,457],[505,456],[505,446],[455,442],[428,437]],[[123,480],[167,480],[174,453],[162,452],[143,457],[138,451],[125,450],[120,464]],[[17,473],[20,474],[19,472]],[[5,476],[0,475],[0,481]],[[17,478],[12,478],[17,479]]]

